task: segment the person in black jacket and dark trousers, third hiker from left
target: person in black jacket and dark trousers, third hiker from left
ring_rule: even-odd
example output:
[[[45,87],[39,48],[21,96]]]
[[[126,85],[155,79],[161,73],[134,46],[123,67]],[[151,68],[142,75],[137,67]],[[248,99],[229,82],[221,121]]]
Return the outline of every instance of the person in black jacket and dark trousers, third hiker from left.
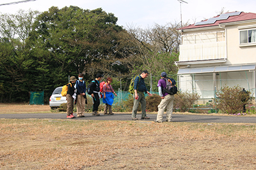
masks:
[[[92,86],[90,87],[93,90],[91,94],[93,99],[93,110],[92,115],[99,116],[98,108],[100,105],[100,79],[102,78],[101,74],[97,74],[95,80],[92,81]]]

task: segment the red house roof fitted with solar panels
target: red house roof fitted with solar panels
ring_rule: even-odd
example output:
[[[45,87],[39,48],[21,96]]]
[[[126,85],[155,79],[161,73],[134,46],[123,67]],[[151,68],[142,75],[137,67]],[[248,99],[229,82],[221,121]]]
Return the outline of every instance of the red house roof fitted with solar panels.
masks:
[[[232,16],[232,14],[234,14]],[[222,15],[225,15],[221,17]],[[186,27],[182,27],[182,29],[195,29],[195,28],[202,28],[202,27],[213,27],[218,26],[220,24],[227,24],[230,22],[239,22],[244,20],[255,20],[256,13],[244,13],[244,12],[231,12],[225,13],[222,15],[218,15],[213,18],[209,18],[208,20],[202,20],[201,22],[196,22],[196,24],[191,24]],[[229,16],[231,15],[231,16]]]

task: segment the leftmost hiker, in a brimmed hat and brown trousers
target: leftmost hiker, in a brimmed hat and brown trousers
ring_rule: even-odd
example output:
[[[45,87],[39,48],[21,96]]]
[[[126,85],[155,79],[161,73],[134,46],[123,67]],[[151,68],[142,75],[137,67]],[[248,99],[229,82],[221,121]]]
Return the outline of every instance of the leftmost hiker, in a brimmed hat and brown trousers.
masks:
[[[76,85],[76,77],[70,77],[70,83],[68,83],[68,92],[66,95],[67,98],[67,118],[76,118],[73,115],[74,111],[74,99],[76,100],[76,92],[75,92],[75,85]]]

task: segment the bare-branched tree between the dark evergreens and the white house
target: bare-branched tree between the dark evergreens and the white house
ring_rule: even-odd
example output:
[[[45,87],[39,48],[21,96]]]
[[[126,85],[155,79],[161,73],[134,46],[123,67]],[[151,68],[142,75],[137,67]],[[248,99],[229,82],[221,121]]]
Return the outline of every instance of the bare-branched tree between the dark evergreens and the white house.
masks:
[[[128,27],[127,32],[133,45],[133,48],[129,50],[132,51],[133,57],[143,63],[142,69],[148,69],[150,73],[158,74],[159,62],[162,66],[168,64],[170,67],[175,60],[178,60],[177,55],[175,55],[175,60],[170,58],[174,56],[172,53],[179,53],[179,28],[177,22],[163,26],[155,24],[154,27],[148,27],[147,29],[141,29],[133,25]],[[164,63],[168,58],[172,62]],[[173,72],[175,71],[176,69],[173,69]]]

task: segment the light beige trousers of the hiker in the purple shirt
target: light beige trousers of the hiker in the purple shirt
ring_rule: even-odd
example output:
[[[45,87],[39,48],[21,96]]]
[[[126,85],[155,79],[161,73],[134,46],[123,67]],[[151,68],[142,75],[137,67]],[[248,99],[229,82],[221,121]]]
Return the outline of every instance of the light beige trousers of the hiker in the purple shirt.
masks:
[[[174,95],[168,94],[164,96],[161,103],[158,105],[157,122],[163,122],[163,113],[166,108],[166,120],[170,122],[172,120]]]

